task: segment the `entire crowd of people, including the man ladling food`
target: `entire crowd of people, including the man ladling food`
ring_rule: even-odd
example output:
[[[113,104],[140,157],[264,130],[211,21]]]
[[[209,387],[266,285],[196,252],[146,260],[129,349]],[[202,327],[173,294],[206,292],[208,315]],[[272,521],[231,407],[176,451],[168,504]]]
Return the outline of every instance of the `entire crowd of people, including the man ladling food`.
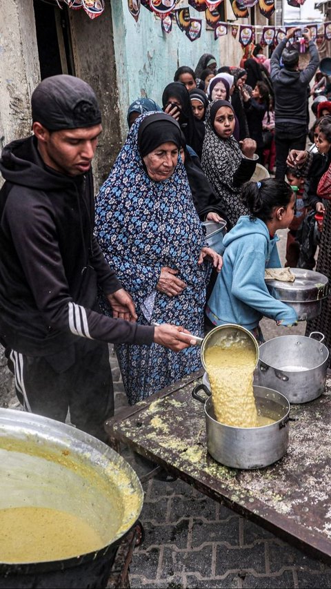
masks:
[[[108,342],[134,404],[199,369],[194,336],[216,325],[237,323],[262,342],[263,316],[296,324],[264,272],[281,266],[277,230],[289,228],[286,264],[314,268],[319,242],[317,270],[330,275],[331,102],[319,101],[305,151],[319,57],[305,32],[301,71],[293,35],[270,59],[256,46],[242,67],[217,69],[205,54],[195,70],[177,69],[162,104],[132,102],[96,197],[94,91],[68,75],[34,90],[33,135],[0,161],[0,341],[26,409],[60,421],[70,409],[74,425],[104,439]],[[257,164],[265,176],[255,181]],[[204,222],[226,224],[223,258]],[[330,315],[326,300],[308,326],[329,347]]]

